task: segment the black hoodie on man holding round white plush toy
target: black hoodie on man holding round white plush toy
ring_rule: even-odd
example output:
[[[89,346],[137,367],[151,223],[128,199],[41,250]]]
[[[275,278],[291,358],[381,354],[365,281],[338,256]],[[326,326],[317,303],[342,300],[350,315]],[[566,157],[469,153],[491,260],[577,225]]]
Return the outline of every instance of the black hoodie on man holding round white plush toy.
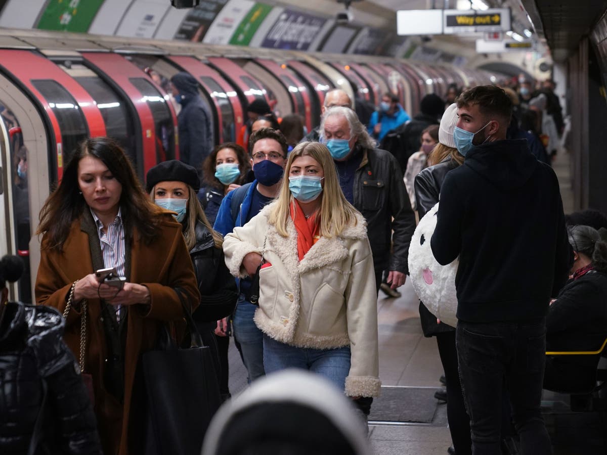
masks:
[[[431,246],[459,255],[457,317],[468,322],[541,318],[572,261],[563,203],[551,167],[525,140],[474,147],[441,188]]]

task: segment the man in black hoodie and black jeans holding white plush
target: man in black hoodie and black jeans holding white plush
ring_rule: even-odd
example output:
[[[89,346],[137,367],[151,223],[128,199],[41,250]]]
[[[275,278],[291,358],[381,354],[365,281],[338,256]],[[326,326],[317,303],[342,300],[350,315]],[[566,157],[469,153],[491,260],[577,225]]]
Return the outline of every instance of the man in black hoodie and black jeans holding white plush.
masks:
[[[459,256],[459,374],[475,455],[500,453],[502,387],[523,453],[551,453],[540,413],[546,312],[571,265],[557,177],[506,140],[512,102],[478,86],[459,96],[453,137],[463,166],[447,174],[430,245],[436,260]]]

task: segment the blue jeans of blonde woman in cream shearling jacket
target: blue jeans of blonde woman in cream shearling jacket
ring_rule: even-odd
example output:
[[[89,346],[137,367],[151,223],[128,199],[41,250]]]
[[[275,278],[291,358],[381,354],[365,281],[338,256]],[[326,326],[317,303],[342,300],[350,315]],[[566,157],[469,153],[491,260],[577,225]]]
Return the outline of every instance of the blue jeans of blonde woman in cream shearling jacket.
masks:
[[[350,372],[350,346],[335,349],[296,348],[263,335],[263,365],[270,374],[286,368],[302,368],[324,376],[340,390]]]

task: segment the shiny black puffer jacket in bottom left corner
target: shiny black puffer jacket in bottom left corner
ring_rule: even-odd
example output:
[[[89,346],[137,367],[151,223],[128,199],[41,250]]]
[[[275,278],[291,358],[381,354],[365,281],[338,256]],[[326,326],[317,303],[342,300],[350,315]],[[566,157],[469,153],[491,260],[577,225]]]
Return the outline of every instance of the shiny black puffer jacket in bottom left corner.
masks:
[[[97,421],[55,308],[7,303],[0,320],[0,453],[101,455]],[[44,405],[44,406],[42,406]],[[36,420],[39,420],[36,425]],[[38,431],[34,431],[38,428]]]

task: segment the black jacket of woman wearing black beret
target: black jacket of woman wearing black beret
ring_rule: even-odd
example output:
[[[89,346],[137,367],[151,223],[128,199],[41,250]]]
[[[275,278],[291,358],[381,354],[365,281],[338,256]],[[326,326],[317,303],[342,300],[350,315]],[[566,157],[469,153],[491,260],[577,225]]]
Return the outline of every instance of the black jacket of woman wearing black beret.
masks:
[[[200,306],[194,311],[197,322],[216,322],[234,311],[238,294],[236,280],[229,273],[223,250],[215,248],[211,232],[196,224],[196,244],[190,250],[200,291]]]

